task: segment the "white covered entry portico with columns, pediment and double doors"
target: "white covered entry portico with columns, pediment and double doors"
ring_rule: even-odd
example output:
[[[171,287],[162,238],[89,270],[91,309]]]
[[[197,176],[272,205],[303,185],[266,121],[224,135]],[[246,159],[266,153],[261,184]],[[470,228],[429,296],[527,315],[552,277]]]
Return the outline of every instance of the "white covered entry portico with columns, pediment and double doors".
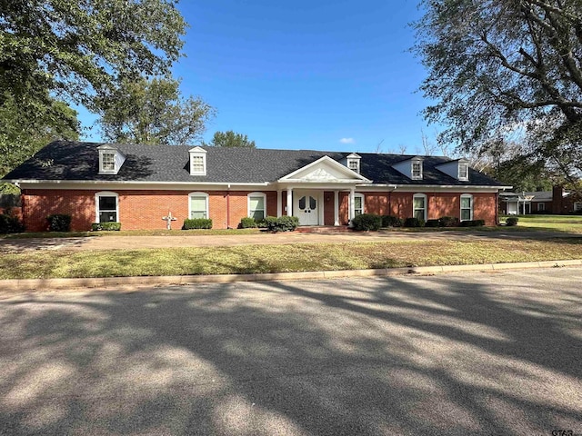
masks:
[[[345,165],[328,156],[310,163],[277,181],[277,214],[295,215],[299,225],[324,225],[326,208],[333,207],[333,225],[340,225],[339,193],[349,193],[347,218],[355,216],[356,186],[372,183]],[[286,210],[283,211],[283,191],[286,191]],[[333,202],[330,195],[333,195]]]

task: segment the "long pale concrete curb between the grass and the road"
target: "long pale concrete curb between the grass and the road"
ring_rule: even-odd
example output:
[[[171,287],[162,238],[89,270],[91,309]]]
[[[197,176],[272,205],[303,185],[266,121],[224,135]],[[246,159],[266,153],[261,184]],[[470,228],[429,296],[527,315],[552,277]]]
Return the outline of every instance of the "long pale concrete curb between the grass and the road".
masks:
[[[112,286],[155,286],[193,283],[268,282],[280,280],[322,280],[346,277],[389,277],[407,274],[444,272],[499,271],[528,268],[582,266],[582,260],[542,261],[525,263],[483,263],[476,265],[414,266],[376,270],[343,270],[318,272],[268,272],[262,274],[161,275],[141,277],[98,277],[84,279],[12,279],[0,280],[2,291],[35,291],[63,288],[110,288]]]

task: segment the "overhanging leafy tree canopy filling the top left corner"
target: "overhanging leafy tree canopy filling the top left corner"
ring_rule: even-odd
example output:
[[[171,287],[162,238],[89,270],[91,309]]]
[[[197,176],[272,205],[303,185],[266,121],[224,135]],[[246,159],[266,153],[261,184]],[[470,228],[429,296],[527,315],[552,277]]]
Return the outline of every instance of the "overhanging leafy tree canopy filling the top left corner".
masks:
[[[0,92],[91,108],[119,78],[166,74],[185,31],[175,0],[0,0]]]

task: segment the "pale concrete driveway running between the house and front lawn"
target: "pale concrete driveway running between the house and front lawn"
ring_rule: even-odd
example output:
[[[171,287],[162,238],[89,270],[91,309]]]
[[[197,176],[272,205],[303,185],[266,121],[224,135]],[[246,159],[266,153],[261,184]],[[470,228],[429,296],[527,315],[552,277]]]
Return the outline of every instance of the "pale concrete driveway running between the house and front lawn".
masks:
[[[376,243],[388,241],[478,241],[548,240],[581,238],[557,232],[342,232],[342,233],[256,233],[221,235],[124,236],[107,235],[78,238],[0,239],[0,253],[35,250],[119,250],[176,247],[216,247],[250,244],[296,243]]]

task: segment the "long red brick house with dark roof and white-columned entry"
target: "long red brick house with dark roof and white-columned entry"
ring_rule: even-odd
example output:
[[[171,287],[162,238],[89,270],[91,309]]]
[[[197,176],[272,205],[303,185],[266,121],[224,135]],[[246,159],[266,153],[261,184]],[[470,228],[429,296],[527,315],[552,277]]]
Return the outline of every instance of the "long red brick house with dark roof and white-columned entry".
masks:
[[[55,142],[5,176],[22,190],[28,231],[51,213],[73,230],[120,222],[162,229],[171,212],[218,229],[241,218],[296,215],[301,225],[346,225],[359,213],[497,223],[503,186],[465,159],[307,150]]]

